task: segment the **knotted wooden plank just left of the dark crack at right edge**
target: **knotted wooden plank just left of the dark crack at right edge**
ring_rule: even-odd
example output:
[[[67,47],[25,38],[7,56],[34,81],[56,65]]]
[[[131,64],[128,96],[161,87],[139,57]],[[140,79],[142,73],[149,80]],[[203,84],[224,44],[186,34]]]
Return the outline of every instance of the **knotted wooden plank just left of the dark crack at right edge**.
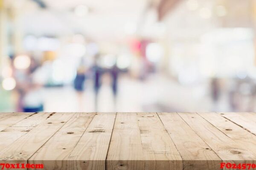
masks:
[[[232,138],[237,144],[244,146],[251,153],[256,153],[256,136],[237,126],[217,113],[198,113],[213,126],[221,130],[222,133]]]

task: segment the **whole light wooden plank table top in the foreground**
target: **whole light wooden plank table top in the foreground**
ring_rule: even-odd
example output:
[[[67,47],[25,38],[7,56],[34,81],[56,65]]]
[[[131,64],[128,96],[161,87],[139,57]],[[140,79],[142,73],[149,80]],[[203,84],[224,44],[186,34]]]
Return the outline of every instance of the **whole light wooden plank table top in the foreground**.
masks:
[[[0,163],[219,170],[256,163],[256,113],[0,113]]]

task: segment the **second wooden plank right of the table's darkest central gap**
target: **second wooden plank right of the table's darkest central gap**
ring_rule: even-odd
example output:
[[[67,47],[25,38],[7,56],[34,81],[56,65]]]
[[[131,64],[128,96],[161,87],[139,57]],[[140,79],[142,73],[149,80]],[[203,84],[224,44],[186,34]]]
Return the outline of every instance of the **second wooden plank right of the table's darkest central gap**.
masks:
[[[157,113],[137,113],[145,170],[182,170],[183,161]]]

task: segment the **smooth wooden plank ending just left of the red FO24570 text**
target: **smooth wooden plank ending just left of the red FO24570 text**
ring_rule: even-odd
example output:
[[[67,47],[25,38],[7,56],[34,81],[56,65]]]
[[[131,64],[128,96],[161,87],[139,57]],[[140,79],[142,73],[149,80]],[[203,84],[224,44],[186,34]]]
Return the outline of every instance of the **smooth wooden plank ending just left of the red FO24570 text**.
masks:
[[[183,170],[218,170],[221,159],[177,113],[157,113],[174,141]]]

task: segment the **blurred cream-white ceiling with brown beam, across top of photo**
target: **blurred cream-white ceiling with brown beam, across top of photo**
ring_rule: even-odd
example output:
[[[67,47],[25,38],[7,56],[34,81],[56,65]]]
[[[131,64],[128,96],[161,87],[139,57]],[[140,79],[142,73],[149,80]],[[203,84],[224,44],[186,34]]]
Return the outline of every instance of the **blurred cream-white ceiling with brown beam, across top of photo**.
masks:
[[[133,35],[158,38],[160,34],[198,39],[216,27],[253,26],[253,0],[5,0],[5,3],[15,8],[25,34],[60,37],[83,34],[99,42],[119,41]]]

